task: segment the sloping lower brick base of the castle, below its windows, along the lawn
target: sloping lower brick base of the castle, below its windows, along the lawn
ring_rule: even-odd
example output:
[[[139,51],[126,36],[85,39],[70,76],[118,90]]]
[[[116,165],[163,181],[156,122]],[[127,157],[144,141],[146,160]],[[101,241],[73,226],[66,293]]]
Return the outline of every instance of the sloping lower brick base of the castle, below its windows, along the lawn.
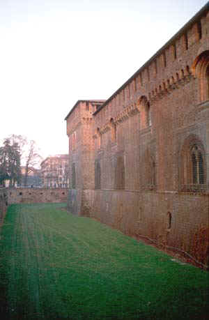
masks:
[[[209,195],[70,190],[68,208],[75,215],[95,218],[129,236],[146,236],[208,264]]]

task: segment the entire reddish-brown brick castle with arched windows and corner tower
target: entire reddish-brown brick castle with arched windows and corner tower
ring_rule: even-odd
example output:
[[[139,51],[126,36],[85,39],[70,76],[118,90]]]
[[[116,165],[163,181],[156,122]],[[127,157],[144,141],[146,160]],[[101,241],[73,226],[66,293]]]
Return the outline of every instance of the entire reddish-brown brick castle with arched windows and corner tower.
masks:
[[[68,116],[68,209],[208,263],[209,3],[107,100]]]

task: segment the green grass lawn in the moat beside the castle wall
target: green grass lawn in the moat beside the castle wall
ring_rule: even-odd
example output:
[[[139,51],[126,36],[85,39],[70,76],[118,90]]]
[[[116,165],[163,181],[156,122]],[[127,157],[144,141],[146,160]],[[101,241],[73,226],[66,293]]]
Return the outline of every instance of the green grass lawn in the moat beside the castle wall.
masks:
[[[8,208],[1,319],[208,319],[208,272],[64,206]]]

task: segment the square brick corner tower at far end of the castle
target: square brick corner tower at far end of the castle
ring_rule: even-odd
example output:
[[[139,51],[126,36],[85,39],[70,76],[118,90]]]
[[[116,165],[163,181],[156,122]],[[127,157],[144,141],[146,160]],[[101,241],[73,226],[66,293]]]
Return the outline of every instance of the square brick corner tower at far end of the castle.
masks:
[[[94,189],[93,113],[104,100],[78,100],[68,113],[70,194],[68,208],[72,213],[88,215],[82,208],[83,190]]]

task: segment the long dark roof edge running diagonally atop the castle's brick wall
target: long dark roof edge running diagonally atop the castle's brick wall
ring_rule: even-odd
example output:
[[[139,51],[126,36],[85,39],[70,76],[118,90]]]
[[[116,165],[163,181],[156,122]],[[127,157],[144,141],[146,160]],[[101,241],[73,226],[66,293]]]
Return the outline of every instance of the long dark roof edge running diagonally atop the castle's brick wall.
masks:
[[[201,17],[207,10],[209,9],[209,1],[205,4],[205,6],[203,6],[203,8],[201,8],[201,10],[198,11],[198,13],[196,13],[196,15],[194,15],[192,17],[192,19],[190,19],[177,33],[174,34],[173,37],[171,37],[171,39],[169,41],[167,41],[167,43],[165,43],[159,50],[157,50],[157,52],[151,56],[151,58],[146,61],[146,63],[144,63],[143,66],[141,66],[141,68],[139,68],[139,70],[137,70],[136,73],[134,73],[134,75],[132,75],[129,79],[127,79],[127,81],[122,84],[122,86],[120,86],[120,88],[118,90],[116,90],[104,103],[103,105],[101,105],[101,107],[96,110],[94,113],[93,113],[93,116],[95,116],[96,114],[98,114],[98,112],[100,112],[100,110],[103,109],[103,107],[105,107],[105,105],[107,105],[107,103],[112,99],[114,98],[114,96],[116,96],[122,89],[125,88],[125,86],[127,86],[127,84],[129,84],[130,82],[132,82],[132,80],[137,76],[139,75],[139,73],[141,73],[141,71],[146,68],[147,66],[150,65],[151,62],[153,62],[157,56],[160,56],[160,54],[162,54],[162,52],[164,51],[164,49],[166,49],[169,45],[171,45],[174,40],[176,40],[176,38],[179,38],[180,36],[183,35],[183,33],[185,33],[185,31],[187,29],[189,29],[189,26],[191,26],[192,24],[194,24],[194,22],[199,18]]]

